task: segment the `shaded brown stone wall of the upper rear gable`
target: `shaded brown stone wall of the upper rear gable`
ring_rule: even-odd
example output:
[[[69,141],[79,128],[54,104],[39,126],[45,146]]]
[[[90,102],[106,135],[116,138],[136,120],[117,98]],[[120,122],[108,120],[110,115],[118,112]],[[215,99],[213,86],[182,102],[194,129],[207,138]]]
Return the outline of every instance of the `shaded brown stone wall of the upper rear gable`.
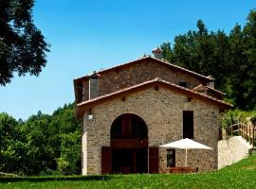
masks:
[[[144,62],[128,66],[125,69],[112,70],[102,74],[99,77],[99,95],[109,94],[154,79],[155,77],[177,85],[179,82],[187,82],[187,87],[190,89],[201,84],[196,77],[174,71],[170,66],[155,62],[154,60],[145,60]],[[82,101],[88,100],[88,86],[88,80],[84,80],[82,82]]]

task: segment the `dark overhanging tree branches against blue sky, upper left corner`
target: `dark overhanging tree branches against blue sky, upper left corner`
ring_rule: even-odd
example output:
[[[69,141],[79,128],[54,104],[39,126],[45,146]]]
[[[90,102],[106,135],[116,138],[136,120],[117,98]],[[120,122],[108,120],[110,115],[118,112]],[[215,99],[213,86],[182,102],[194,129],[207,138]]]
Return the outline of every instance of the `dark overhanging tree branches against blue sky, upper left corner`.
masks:
[[[18,76],[38,76],[46,66],[48,44],[33,24],[34,0],[0,0],[0,84]]]

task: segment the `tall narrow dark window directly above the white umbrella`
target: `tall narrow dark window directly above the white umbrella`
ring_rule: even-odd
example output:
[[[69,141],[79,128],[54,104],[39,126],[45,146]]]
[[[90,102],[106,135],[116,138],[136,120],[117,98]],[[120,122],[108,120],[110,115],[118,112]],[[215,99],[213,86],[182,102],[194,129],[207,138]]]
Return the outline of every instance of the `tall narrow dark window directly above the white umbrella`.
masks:
[[[183,138],[193,139],[193,112],[183,111]]]

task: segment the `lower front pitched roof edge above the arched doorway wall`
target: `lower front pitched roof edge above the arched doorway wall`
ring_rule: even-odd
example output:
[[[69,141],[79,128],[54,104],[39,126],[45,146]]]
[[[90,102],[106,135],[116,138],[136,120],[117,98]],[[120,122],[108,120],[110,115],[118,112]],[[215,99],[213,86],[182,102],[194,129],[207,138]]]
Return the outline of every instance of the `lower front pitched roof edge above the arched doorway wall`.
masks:
[[[179,94],[186,94],[189,97],[192,98],[196,98],[196,99],[200,99],[206,103],[210,103],[214,106],[219,107],[222,110],[227,110],[232,108],[232,105],[230,105],[229,103],[226,103],[222,100],[218,100],[216,98],[210,97],[209,95],[206,94],[198,94],[188,88],[185,87],[181,87],[179,85],[175,85],[172,82],[168,82],[166,80],[160,79],[158,77],[156,77],[155,79],[152,80],[148,80],[142,83],[139,83],[137,85],[131,86],[131,87],[127,87],[124,89],[121,89],[119,91],[110,93],[110,94],[105,94],[105,95],[101,95],[99,97],[93,98],[91,100],[87,100],[87,101],[83,101],[79,104],[77,104],[77,111],[76,111],[76,116],[77,117],[82,117],[83,112],[90,107],[96,106],[98,104],[101,104],[103,102],[106,102],[108,100],[111,100],[113,98],[117,98],[121,95],[125,95],[125,94],[133,94],[139,91],[143,91],[145,89],[148,89],[152,86],[155,86],[155,84],[162,86],[166,89],[169,89],[171,91],[177,92]]]

